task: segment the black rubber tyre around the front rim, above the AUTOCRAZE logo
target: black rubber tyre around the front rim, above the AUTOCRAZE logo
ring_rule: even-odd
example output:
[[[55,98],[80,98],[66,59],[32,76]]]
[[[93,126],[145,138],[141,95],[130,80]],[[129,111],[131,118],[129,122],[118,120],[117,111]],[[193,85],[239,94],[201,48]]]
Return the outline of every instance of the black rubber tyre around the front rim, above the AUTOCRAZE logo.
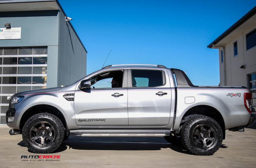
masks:
[[[48,122],[52,124],[55,130],[55,139],[48,146],[39,147],[34,144],[30,138],[31,127],[37,122]],[[39,113],[30,117],[23,126],[23,143],[32,153],[52,153],[58,149],[64,139],[65,128],[58,117],[50,113]]]

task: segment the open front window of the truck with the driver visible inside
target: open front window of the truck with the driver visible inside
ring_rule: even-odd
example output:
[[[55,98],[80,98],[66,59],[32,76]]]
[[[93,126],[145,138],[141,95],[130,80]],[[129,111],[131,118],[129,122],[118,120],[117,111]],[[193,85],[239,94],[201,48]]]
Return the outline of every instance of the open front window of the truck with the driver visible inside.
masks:
[[[122,88],[123,71],[107,71],[90,78],[91,88]]]

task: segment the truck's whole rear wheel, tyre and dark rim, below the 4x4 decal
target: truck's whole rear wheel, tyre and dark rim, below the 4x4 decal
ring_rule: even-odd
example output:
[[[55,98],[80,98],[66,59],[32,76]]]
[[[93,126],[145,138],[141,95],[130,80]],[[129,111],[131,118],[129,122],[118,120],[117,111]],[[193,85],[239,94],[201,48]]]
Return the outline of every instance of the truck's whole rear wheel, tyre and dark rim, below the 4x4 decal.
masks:
[[[181,142],[195,155],[212,155],[222,144],[220,125],[212,118],[198,116],[186,121],[181,129]]]

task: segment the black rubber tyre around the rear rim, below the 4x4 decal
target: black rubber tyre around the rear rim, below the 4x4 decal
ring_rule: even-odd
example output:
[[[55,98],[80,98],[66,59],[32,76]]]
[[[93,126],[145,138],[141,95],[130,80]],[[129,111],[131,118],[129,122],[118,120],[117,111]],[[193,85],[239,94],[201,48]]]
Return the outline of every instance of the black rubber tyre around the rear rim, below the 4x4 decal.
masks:
[[[209,125],[212,131],[215,132],[216,139],[212,142],[212,145],[207,148],[198,147],[193,141],[193,130],[200,126],[200,124]],[[181,129],[181,142],[185,149],[195,155],[209,156],[214,154],[220,147],[223,141],[223,132],[220,125],[212,118],[207,116],[198,116],[190,118],[186,121]]]

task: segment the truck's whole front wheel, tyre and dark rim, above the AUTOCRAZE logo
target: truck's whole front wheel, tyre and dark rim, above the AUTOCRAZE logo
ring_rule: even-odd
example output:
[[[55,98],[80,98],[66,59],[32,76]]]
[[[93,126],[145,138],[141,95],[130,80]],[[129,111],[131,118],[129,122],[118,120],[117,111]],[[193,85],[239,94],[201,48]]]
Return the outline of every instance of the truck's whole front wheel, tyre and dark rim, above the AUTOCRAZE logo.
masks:
[[[58,117],[39,113],[30,117],[23,126],[22,138],[32,153],[52,153],[64,139],[65,128]]]

